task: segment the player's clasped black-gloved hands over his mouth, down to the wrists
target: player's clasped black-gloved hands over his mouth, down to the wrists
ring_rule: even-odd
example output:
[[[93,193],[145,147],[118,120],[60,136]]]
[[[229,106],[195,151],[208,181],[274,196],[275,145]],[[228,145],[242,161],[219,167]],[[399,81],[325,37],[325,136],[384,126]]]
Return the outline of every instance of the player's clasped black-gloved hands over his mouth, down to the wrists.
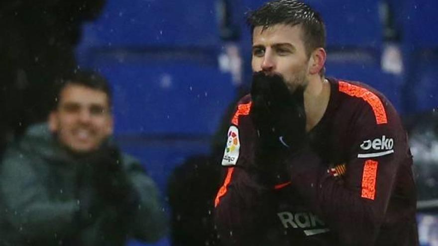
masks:
[[[254,73],[251,87],[251,120],[257,129],[255,150],[257,178],[267,186],[290,180],[286,157],[303,148],[306,137],[304,88],[290,92],[282,76]]]

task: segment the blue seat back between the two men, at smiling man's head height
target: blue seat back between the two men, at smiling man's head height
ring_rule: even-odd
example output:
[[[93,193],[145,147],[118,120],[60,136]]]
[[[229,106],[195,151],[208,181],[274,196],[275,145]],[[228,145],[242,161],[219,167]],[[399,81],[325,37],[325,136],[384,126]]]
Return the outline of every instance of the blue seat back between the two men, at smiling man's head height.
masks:
[[[115,134],[212,135],[235,96],[229,74],[197,61],[96,61],[113,87]]]

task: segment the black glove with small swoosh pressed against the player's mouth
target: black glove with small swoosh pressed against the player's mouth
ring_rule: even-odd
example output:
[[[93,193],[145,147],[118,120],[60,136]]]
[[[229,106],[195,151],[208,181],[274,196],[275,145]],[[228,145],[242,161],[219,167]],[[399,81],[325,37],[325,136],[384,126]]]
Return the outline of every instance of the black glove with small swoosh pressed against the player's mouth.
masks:
[[[254,73],[251,119],[264,151],[298,151],[306,143],[304,87],[290,92],[281,75]]]

